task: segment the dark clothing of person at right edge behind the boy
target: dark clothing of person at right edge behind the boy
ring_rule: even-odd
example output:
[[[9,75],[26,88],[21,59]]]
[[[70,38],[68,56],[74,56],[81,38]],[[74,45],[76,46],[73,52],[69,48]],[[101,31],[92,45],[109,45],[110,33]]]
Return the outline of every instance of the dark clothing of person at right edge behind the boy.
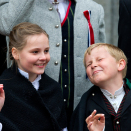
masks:
[[[128,58],[127,78],[131,80],[131,0],[119,1],[118,47]]]

